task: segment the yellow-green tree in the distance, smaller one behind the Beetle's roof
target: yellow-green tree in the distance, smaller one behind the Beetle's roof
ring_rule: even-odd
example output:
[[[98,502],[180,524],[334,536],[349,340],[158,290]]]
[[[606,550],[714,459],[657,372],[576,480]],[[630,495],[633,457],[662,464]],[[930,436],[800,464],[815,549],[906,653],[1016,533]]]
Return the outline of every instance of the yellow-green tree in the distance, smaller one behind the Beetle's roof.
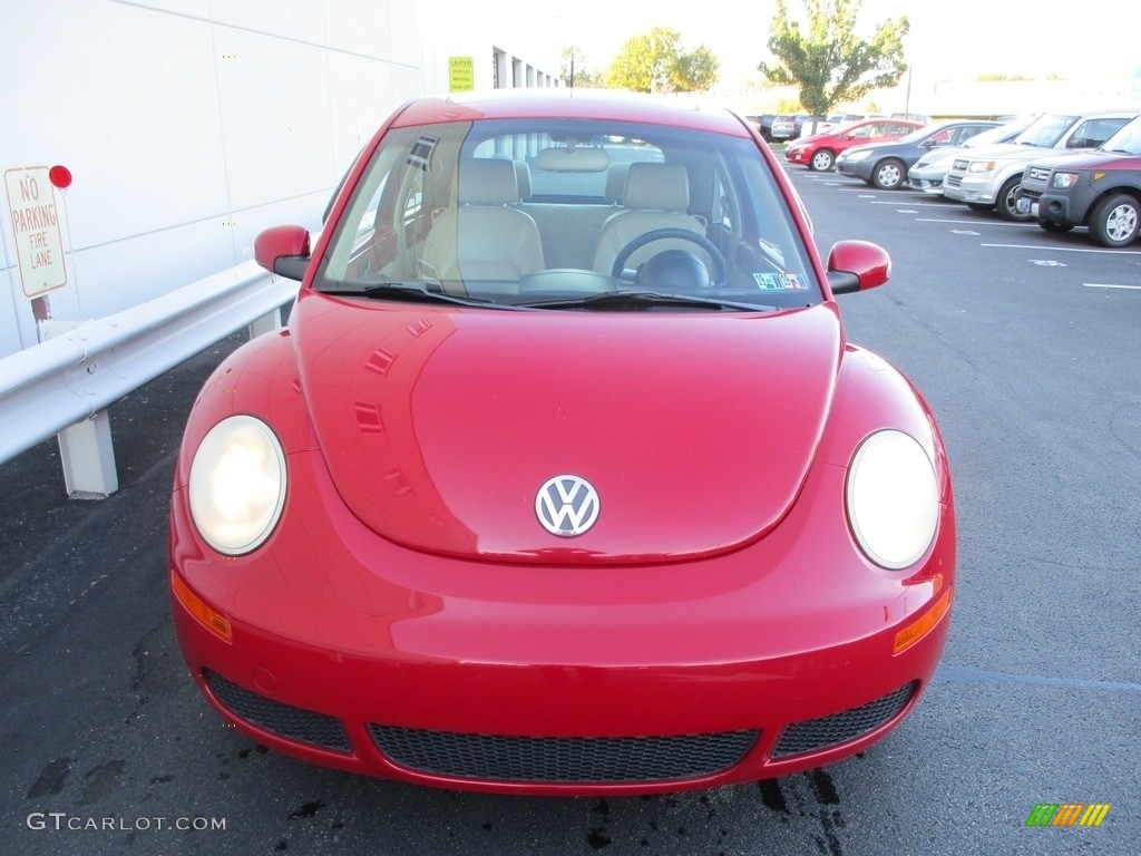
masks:
[[[607,86],[636,92],[691,92],[717,82],[720,63],[704,45],[682,51],[681,33],[656,26],[622,46],[606,75]]]

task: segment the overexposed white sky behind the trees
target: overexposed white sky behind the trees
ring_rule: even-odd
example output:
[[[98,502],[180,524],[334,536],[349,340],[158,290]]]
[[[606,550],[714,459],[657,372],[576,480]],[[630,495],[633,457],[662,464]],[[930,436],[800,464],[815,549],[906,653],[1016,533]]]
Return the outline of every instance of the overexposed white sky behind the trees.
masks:
[[[434,8],[455,5],[456,15],[483,14],[470,0],[435,0]],[[702,3],[694,0],[574,0],[532,5],[513,15],[495,16],[493,30],[516,50],[527,48],[558,57],[572,42],[586,65],[605,70],[626,39],[665,26],[681,33],[686,49],[705,45],[721,60],[723,83],[760,79],[756,65],[767,58],[774,0]],[[787,0],[790,14],[803,8]],[[1123,7],[1115,7],[1122,9]],[[482,13],[476,11],[482,10]],[[711,14],[712,13],[712,14]],[[1089,75],[1108,65],[1122,73],[1141,66],[1135,26],[1112,16],[1076,14],[1041,0],[864,0],[859,22],[874,26],[907,14],[908,58],[916,74],[931,80],[973,78],[981,73]],[[1099,26],[1099,22],[1108,24]],[[486,22],[485,22],[486,25]]]

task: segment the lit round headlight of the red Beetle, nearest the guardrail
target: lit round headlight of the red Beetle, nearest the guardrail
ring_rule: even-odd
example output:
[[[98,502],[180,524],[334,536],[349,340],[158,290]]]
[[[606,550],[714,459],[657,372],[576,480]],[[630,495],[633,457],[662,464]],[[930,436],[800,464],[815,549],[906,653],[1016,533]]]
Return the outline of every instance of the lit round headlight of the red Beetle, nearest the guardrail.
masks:
[[[191,463],[189,500],[194,525],[218,552],[261,544],[285,503],[285,454],[269,426],[238,415],[211,428]]]

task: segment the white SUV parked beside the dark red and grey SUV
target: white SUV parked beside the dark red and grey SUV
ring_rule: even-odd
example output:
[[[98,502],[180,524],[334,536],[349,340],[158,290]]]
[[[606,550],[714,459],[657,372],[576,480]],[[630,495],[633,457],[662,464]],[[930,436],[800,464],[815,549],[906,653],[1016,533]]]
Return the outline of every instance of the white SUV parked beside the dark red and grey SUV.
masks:
[[[965,202],[976,211],[997,208],[1004,220],[1028,220],[1018,210],[1022,170],[1030,161],[1076,148],[1097,148],[1141,110],[1109,110],[1091,113],[1046,113],[1031,122],[1012,143],[987,146],[956,158],[942,185],[942,195]]]

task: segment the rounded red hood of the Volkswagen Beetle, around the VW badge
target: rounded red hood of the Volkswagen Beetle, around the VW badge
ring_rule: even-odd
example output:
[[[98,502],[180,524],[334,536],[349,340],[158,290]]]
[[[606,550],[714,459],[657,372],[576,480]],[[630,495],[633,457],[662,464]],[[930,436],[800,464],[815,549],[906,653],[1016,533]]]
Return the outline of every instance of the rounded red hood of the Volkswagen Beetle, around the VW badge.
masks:
[[[305,399],[351,512],[479,559],[633,563],[731,550],[788,511],[841,358],[831,305],[783,313],[509,312],[305,292]],[[586,532],[539,493],[588,479]]]

